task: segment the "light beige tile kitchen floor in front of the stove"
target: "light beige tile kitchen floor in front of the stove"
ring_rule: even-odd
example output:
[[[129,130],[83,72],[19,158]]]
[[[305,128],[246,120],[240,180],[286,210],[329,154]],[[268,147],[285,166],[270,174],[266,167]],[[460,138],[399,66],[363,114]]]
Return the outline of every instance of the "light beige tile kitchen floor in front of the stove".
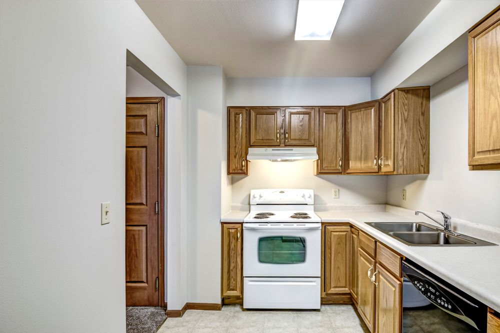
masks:
[[[224,305],[220,311],[187,310],[181,318],[168,318],[158,329],[165,332],[364,333],[367,329],[352,305],[321,305],[320,311],[256,311]]]

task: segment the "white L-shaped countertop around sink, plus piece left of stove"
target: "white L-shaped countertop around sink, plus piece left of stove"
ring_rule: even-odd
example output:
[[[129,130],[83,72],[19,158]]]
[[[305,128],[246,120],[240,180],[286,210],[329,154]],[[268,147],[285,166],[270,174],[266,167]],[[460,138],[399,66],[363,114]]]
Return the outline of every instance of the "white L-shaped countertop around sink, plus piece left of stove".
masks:
[[[382,210],[315,211],[322,222],[349,221],[408,259],[428,269],[457,288],[500,311],[500,246],[408,246],[365,222],[421,221],[434,224],[424,216],[404,216]],[[247,210],[231,210],[221,222],[243,222]],[[460,231],[460,230],[459,230]],[[480,237],[466,232],[465,234]],[[488,240],[488,239],[485,239]]]

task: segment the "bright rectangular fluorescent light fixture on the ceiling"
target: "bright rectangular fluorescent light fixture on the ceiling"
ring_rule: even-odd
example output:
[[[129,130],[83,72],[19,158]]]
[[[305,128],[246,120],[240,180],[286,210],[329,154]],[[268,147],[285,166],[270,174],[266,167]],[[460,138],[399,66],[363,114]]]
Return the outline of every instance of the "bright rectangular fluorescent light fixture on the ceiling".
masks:
[[[329,40],[344,0],[299,0],[295,40]]]

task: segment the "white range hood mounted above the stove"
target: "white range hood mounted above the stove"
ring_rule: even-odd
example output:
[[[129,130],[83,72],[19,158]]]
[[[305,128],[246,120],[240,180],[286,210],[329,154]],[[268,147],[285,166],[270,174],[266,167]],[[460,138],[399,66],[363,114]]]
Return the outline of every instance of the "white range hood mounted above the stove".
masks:
[[[293,161],[297,159],[318,159],[315,147],[267,147],[248,148],[248,160],[268,159],[271,161]]]

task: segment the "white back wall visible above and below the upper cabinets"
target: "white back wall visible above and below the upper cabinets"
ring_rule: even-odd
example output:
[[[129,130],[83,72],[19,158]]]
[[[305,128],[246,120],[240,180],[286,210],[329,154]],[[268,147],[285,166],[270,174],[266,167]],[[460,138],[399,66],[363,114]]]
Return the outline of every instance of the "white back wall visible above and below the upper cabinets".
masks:
[[[228,78],[227,105],[348,105],[370,98],[368,77]],[[249,204],[253,188],[312,188],[317,204],[385,203],[386,176],[312,174],[312,161],[251,161],[231,176],[232,203]],[[339,188],[333,199],[332,188]]]

